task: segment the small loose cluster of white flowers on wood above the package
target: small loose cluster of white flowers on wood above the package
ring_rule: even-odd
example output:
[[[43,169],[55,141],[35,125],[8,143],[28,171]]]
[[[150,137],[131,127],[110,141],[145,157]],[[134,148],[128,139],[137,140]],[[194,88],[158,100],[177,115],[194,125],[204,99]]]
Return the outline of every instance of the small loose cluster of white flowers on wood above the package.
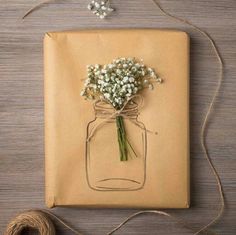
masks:
[[[110,12],[114,11],[113,8],[109,6],[109,1],[92,1],[88,5],[88,9],[93,12],[100,19],[104,19]]]

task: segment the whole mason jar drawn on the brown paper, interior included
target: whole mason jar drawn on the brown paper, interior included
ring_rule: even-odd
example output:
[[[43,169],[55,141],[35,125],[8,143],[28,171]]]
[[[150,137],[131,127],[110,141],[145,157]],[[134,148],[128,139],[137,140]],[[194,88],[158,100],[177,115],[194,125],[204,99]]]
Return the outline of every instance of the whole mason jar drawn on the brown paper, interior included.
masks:
[[[114,108],[105,101],[94,104],[95,119],[88,123],[86,141],[86,178],[97,191],[135,191],[146,181],[147,131],[138,120],[138,104],[130,102],[120,113],[127,138],[135,154],[121,161]]]

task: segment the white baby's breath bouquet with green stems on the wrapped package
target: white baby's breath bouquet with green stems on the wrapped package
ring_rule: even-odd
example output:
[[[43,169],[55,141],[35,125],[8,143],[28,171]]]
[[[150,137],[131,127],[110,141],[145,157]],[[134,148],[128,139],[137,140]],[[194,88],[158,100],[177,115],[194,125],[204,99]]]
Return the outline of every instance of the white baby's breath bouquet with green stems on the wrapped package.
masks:
[[[132,98],[143,89],[153,89],[154,82],[161,83],[155,70],[135,58],[118,58],[106,65],[88,65],[87,78],[81,95],[90,100],[105,100],[115,110],[125,109]],[[121,161],[127,161],[129,150],[124,118],[116,116],[117,135]]]

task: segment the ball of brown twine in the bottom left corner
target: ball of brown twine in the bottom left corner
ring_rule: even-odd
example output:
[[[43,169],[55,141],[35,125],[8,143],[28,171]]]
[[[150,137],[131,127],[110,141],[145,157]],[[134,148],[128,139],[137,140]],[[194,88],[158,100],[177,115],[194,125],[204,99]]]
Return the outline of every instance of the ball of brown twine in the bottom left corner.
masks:
[[[53,222],[42,211],[27,211],[18,215],[8,224],[4,235],[21,235],[24,229],[33,229],[40,235],[56,235]]]

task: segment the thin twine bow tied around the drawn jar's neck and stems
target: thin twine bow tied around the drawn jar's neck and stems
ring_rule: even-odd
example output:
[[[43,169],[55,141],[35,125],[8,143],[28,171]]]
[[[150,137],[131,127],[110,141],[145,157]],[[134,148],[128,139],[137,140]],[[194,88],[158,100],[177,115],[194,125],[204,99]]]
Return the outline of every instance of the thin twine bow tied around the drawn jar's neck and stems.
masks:
[[[140,102],[136,103],[137,105],[133,106],[133,107],[129,107],[127,108],[128,104],[130,104],[131,101],[134,101],[135,98],[139,98]],[[87,137],[87,142],[89,142],[91,140],[91,138],[94,136],[95,132],[101,128],[104,124],[108,123],[110,120],[113,120],[114,118],[121,116],[127,120],[129,120],[130,122],[132,122],[134,125],[136,125],[137,127],[139,127],[140,129],[144,130],[145,132],[151,133],[151,134],[155,134],[157,135],[158,133],[155,131],[151,131],[146,129],[146,127],[144,125],[141,125],[139,122],[137,122],[137,116],[139,114],[139,109],[143,107],[144,104],[144,99],[141,95],[133,95],[131,96],[122,106],[121,109],[116,110],[112,105],[112,108],[105,108],[105,107],[101,107],[101,106],[97,106],[97,104],[99,102],[105,102],[107,104],[110,104],[108,101],[104,100],[104,99],[100,99],[97,100],[94,103],[94,110],[95,110],[95,115],[96,117],[103,117],[104,120],[102,120],[102,122],[98,123],[97,125],[95,125],[93,127],[93,129],[91,130],[91,132],[89,133],[88,137]],[[112,110],[112,112],[109,112],[110,110]]]

